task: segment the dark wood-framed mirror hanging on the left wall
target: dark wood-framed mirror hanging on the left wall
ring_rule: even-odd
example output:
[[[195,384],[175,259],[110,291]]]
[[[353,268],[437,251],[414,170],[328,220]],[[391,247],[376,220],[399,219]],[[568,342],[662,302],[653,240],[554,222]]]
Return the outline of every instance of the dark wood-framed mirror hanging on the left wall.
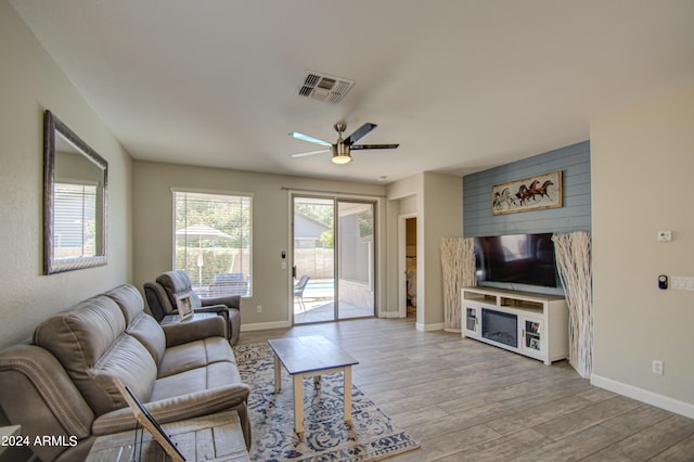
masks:
[[[44,274],[106,265],[107,179],[107,162],[46,111]]]

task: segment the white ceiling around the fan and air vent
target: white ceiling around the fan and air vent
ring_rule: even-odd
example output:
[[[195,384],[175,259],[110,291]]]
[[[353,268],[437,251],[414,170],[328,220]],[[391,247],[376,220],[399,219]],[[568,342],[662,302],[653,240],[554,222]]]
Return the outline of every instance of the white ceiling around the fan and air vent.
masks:
[[[138,159],[463,175],[587,140],[591,116],[694,82],[694,0],[11,3]],[[356,86],[336,105],[298,97],[309,69]],[[337,120],[400,147],[290,157],[319,147],[290,131],[334,142]]]

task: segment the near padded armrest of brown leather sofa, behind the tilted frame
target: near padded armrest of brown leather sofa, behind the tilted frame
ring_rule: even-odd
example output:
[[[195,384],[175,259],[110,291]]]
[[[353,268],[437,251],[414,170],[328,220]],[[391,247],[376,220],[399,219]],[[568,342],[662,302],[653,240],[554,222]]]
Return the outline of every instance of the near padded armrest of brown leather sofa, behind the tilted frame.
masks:
[[[226,385],[204,392],[191,393],[176,398],[146,402],[144,406],[160,424],[193,419],[245,406],[250,388],[243,383]],[[107,412],[92,425],[95,436],[126,432],[136,427],[136,419],[130,408]]]

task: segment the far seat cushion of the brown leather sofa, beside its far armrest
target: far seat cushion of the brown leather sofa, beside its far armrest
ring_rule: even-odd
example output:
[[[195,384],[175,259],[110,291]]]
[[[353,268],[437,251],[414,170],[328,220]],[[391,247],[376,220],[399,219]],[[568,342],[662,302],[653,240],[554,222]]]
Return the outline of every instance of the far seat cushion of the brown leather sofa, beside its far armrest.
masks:
[[[197,342],[169,347],[159,362],[157,378],[202,368],[213,362],[235,364],[234,352],[222,337],[209,337]]]

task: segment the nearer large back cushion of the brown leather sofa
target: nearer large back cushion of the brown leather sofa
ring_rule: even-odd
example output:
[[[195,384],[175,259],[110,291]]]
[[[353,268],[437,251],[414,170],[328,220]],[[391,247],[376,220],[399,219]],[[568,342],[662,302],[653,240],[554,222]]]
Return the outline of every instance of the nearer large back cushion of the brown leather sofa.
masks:
[[[97,415],[126,406],[114,376],[143,401],[156,378],[152,355],[124,332],[125,325],[116,301],[102,295],[46,320],[34,332],[34,343],[57,358]]]

